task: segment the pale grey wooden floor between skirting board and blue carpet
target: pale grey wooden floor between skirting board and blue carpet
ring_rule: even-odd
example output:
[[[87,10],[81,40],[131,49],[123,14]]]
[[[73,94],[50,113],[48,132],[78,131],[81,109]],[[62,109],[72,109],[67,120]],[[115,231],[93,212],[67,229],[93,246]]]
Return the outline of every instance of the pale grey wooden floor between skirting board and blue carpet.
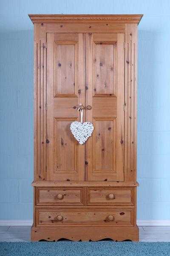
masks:
[[[30,226],[0,226],[0,242],[30,241]],[[170,242],[170,226],[140,226],[139,240],[142,242]]]

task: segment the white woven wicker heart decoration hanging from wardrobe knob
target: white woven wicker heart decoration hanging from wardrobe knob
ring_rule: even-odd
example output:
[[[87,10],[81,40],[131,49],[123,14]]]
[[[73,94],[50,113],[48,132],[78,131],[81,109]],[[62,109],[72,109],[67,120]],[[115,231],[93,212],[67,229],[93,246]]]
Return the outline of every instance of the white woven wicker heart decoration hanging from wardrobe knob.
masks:
[[[94,126],[90,122],[72,122],[70,126],[71,132],[74,135],[74,138],[80,143],[83,144],[91,136],[94,130]]]

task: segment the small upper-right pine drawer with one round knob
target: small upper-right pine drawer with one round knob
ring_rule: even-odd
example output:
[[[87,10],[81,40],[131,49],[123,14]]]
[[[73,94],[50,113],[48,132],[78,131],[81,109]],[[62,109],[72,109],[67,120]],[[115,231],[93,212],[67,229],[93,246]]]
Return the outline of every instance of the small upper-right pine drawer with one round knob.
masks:
[[[88,188],[88,205],[133,205],[134,188]]]

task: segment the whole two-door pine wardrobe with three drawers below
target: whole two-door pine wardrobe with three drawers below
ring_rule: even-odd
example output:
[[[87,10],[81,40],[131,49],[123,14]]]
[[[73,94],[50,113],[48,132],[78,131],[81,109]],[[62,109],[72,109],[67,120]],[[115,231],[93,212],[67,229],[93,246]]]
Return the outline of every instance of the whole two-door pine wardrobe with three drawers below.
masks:
[[[29,15],[34,23],[31,240],[139,241],[137,26],[142,15]],[[80,145],[70,130],[91,122]]]

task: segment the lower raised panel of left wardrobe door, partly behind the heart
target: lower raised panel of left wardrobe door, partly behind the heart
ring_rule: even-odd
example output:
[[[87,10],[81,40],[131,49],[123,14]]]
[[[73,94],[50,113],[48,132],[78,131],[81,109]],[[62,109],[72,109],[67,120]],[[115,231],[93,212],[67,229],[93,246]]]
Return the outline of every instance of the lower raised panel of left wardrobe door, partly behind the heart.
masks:
[[[54,118],[54,172],[77,172],[77,141],[70,130],[77,118]],[[69,156],[69,157],[68,157]]]

